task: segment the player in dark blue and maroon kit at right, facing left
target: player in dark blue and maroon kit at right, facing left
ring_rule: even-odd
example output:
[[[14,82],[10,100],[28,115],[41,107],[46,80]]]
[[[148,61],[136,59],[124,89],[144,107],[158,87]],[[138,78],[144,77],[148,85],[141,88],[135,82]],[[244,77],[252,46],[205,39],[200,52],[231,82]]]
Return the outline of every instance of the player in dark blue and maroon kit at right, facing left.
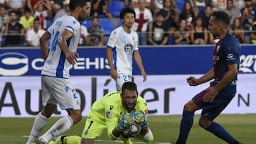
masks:
[[[238,68],[240,64],[240,43],[230,35],[230,18],[223,11],[215,11],[210,16],[208,29],[213,36],[220,38],[213,51],[213,68],[199,79],[188,77],[190,86],[197,86],[214,79],[210,87],[188,101],[183,109],[180,132],[176,144],[186,143],[193,125],[194,112],[202,109],[199,125],[230,144],[239,144],[223,126],[214,119],[225,109],[236,93]]]

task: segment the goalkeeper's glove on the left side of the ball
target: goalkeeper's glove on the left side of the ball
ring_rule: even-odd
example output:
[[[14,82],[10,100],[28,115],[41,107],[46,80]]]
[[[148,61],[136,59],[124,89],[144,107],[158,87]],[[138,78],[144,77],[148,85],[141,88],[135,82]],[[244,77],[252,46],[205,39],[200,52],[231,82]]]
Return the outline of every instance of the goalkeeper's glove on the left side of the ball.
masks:
[[[134,117],[130,115],[129,113],[123,113],[121,116],[121,121],[117,123],[117,131],[121,132],[124,130],[124,128],[128,128],[129,125],[131,125],[134,122]]]

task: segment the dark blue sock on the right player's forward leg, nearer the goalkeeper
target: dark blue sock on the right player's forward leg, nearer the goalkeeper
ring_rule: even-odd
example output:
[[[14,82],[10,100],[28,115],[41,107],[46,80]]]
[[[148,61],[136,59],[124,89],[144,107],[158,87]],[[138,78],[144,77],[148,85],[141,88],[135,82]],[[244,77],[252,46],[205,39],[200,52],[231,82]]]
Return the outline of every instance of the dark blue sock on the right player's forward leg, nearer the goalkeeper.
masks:
[[[178,140],[176,141],[176,144],[186,143],[188,133],[191,130],[191,127],[193,126],[193,116],[193,112],[183,110],[180,133],[178,135]]]

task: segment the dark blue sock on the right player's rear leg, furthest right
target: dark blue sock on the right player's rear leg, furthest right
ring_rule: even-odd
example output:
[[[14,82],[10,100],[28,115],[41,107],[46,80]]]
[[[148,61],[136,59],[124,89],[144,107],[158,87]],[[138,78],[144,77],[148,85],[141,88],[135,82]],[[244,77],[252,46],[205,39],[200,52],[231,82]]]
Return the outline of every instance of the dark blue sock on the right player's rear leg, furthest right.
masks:
[[[218,123],[211,123],[211,125],[206,128],[206,131],[210,131],[210,133],[213,133],[218,138],[221,138],[228,143],[239,143],[237,140],[235,140],[235,138],[233,138],[232,135],[228,133],[228,131],[225,131],[225,129]]]

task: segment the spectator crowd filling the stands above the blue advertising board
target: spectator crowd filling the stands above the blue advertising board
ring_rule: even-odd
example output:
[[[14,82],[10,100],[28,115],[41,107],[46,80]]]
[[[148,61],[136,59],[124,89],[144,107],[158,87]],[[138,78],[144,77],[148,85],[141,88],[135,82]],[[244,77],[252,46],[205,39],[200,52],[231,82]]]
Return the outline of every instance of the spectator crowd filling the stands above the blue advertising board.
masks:
[[[70,12],[68,4],[69,0],[0,0],[0,46],[38,47],[50,24]],[[228,13],[230,33],[240,43],[256,43],[255,0],[92,0],[90,20],[81,22],[79,45],[105,45],[110,26],[104,24],[110,23],[100,21],[113,21],[112,28],[122,26],[117,12],[126,6],[136,12],[132,29],[139,35],[139,45],[215,44],[218,38],[208,31],[213,11]],[[89,21],[91,26],[86,25]]]

